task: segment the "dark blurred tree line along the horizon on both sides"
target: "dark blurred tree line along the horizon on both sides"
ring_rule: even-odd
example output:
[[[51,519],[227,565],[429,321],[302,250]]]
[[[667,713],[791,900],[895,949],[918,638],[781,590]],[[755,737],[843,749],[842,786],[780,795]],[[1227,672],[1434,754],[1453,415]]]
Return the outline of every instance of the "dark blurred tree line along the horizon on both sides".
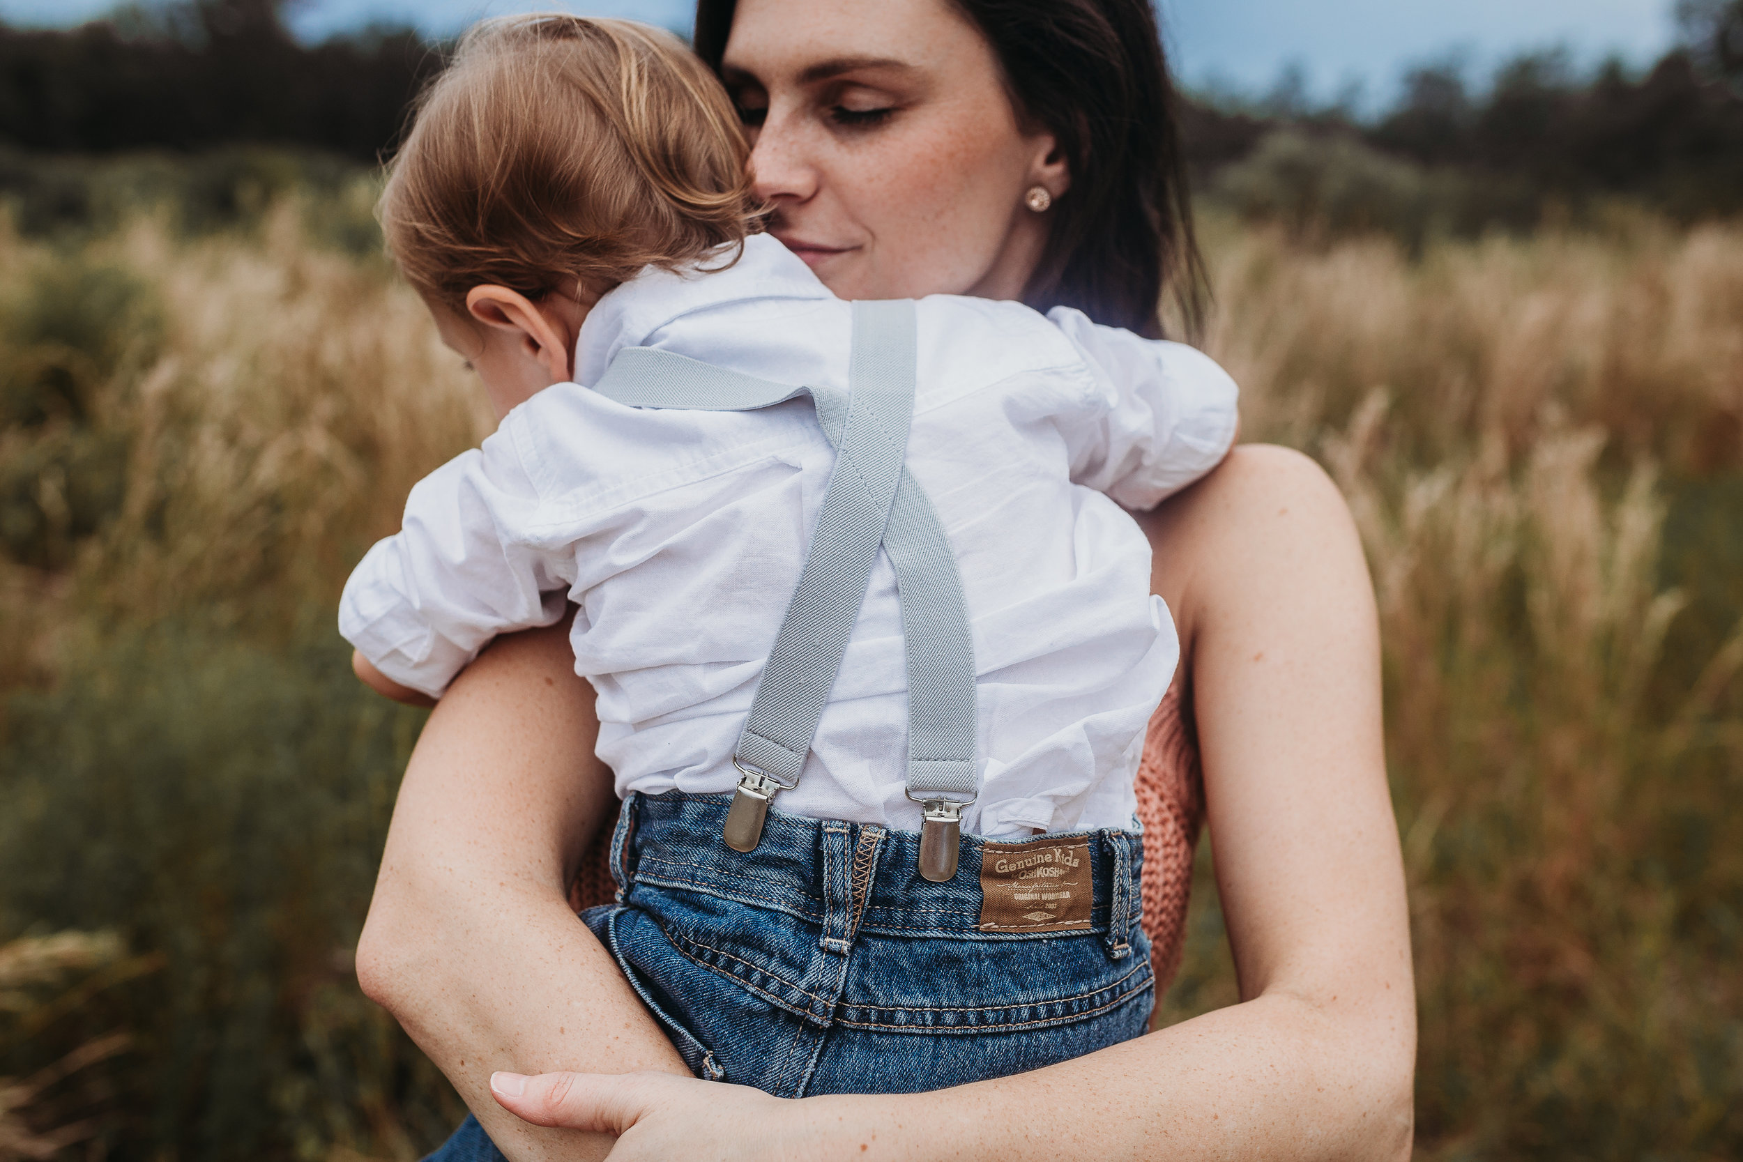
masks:
[[[441,45],[408,28],[305,45],[286,26],[286,2],[173,0],[68,31],[0,26],[0,143],[33,155],[265,143],[375,160]],[[1605,195],[1677,218],[1743,209],[1743,0],[1679,0],[1677,17],[1682,44],[1644,75],[1618,61],[1581,75],[1548,52],[1513,61],[1476,92],[1461,68],[1434,64],[1412,71],[1379,118],[1311,108],[1286,78],[1267,101],[1199,98],[1185,110],[1194,178],[1215,190],[1218,174],[1255,155],[1286,178],[1300,162],[1264,150],[1285,132],[1328,150],[1321,169],[1384,169],[1379,155],[1407,167],[1394,185],[1412,171],[1464,174],[1489,190],[1461,209],[1480,223]],[[21,183],[0,174],[3,188]],[[1248,206],[1251,193],[1236,200],[1262,209]]]

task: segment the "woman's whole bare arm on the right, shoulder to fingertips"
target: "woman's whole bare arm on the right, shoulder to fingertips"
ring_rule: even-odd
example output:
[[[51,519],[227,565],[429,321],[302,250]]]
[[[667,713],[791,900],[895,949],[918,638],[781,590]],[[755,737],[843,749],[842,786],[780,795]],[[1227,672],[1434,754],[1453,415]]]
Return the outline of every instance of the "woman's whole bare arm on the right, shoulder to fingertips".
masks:
[[[622,1132],[614,1162],[704,1143],[720,1159],[1407,1159],[1410,932],[1349,512],[1311,460],[1239,448],[1145,524],[1196,686],[1241,1003],[934,1094],[777,1101],[560,1075],[498,1099]]]

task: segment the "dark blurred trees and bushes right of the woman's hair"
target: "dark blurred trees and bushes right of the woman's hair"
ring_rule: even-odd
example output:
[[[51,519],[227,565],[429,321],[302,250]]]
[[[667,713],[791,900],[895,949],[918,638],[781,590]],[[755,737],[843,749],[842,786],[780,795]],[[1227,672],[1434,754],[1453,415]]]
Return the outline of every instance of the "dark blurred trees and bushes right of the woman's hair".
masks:
[[[1616,200],[1680,221],[1743,211],[1743,0],[1680,0],[1680,44],[1640,75],[1583,75],[1534,52],[1471,85],[1457,61],[1405,77],[1363,118],[1312,106],[1300,75],[1260,101],[1189,105],[1194,179],[1248,218],[1299,232],[1529,230]]]

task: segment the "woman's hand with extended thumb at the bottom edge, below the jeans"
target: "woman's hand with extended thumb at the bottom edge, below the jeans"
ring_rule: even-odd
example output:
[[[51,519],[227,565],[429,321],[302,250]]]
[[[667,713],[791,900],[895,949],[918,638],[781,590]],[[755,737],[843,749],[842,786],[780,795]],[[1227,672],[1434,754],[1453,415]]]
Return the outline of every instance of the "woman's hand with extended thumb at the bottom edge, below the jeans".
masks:
[[[814,1101],[669,1073],[493,1073],[490,1091],[533,1125],[615,1134],[608,1162],[821,1159]],[[826,1146],[821,1146],[826,1150]],[[856,1157],[863,1157],[856,1148]]]

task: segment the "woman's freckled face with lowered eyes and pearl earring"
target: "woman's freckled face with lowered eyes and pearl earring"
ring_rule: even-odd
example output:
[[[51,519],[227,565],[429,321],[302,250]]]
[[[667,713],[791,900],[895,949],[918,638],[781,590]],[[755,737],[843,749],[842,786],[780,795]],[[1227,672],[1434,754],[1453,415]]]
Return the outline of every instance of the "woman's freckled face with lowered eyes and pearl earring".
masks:
[[[1063,197],[1053,134],[1018,122],[948,0],[739,0],[722,75],[770,232],[842,298],[1021,298]]]

